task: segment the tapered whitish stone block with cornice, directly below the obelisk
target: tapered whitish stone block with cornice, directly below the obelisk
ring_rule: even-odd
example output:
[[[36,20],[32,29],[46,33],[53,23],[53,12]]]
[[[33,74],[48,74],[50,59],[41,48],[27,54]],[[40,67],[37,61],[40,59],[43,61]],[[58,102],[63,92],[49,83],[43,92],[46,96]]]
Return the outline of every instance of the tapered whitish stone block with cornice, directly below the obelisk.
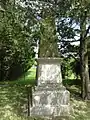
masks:
[[[38,59],[38,85],[47,83],[62,83],[60,59]]]

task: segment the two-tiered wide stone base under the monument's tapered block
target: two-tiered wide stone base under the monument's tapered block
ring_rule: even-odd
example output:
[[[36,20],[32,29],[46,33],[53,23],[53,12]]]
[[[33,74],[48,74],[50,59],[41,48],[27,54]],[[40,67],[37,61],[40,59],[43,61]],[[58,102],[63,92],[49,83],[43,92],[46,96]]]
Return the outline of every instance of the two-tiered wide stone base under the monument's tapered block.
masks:
[[[37,91],[38,90],[38,91]],[[33,94],[31,116],[68,116],[70,94],[65,88],[41,89]]]

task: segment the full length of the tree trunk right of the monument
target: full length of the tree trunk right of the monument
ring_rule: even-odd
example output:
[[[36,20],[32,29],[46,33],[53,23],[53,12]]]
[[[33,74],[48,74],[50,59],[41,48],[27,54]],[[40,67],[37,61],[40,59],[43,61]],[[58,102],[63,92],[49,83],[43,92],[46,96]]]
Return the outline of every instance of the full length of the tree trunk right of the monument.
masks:
[[[85,16],[84,16],[85,17]],[[80,37],[80,65],[81,65],[81,94],[83,99],[89,99],[89,70],[88,70],[88,54],[87,54],[87,42],[86,38],[86,18],[81,21],[81,37]]]

